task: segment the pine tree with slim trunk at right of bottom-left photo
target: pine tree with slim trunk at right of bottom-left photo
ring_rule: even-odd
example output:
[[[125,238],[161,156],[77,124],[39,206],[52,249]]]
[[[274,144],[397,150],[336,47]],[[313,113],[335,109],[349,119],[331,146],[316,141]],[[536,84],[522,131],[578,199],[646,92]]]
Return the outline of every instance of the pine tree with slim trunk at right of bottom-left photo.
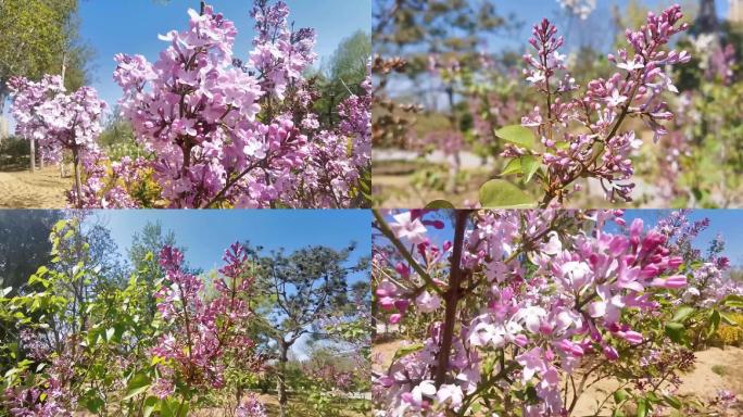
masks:
[[[260,267],[256,288],[273,303],[260,311],[264,330],[276,343],[277,389],[281,417],[287,416],[286,366],[289,351],[303,336],[322,339],[323,319],[348,308],[349,277],[365,270],[368,258],[351,262],[355,244],[343,250],[308,247],[285,255],[282,250],[253,254]]]

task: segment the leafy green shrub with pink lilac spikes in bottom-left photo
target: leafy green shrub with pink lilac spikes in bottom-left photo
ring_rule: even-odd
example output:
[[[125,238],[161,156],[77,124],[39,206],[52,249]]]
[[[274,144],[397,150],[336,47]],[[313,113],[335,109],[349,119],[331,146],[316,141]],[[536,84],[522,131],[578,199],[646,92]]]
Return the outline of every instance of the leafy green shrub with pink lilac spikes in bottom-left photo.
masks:
[[[226,251],[213,298],[203,278],[182,270],[182,254],[164,248],[153,316],[152,282],[133,276],[123,288],[91,286],[96,270],[87,268],[88,243],[78,229],[76,222],[55,226],[55,265],[28,281],[40,291],[0,304],[23,334],[22,346],[3,344],[3,353],[28,352],[2,379],[0,400],[10,415],[72,416],[78,407],[105,415],[116,407],[184,416],[198,394],[229,388],[227,364],[243,374],[261,368],[264,359],[247,336],[253,278],[242,247]],[[230,357],[239,357],[237,365]],[[265,416],[254,397],[242,400],[236,413]]]

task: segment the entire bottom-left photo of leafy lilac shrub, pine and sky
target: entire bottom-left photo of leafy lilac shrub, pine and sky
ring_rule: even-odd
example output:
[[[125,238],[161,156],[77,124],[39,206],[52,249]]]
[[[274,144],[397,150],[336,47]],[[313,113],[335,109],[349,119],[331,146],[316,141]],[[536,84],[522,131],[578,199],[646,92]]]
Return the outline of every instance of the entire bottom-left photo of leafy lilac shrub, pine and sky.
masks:
[[[186,216],[205,225],[189,231],[167,216],[134,229],[100,211],[0,212],[0,415],[367,415],[368,240],[352,239],[368,216],[332,215],[356,230],[331,244],[269,237],[330,215],[225,219],[262,231],[218,237],[234,243],[203,262],[215,250],[200,240],[226,230],[205,216]]]

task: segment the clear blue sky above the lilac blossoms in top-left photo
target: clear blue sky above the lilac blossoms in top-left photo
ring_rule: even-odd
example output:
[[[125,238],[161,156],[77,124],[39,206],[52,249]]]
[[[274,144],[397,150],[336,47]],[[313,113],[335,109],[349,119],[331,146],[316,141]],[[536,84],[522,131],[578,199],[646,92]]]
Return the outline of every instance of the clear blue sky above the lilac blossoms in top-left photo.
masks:
[[[322,58],[332,54],[341,39],[358,29],[366,33],[372,25],[372,0],[286,0],[295,27],[314,27],[316,52]],[[239,34],[235,47],[237,58],[247,58],[253,37],[250,17],[252,0],[211,0],[209,4],[235,22]],[[121,88],[113,81],[116,65],[113,56],[124,52],[139,53],[155,61],[167,47],[159,34],[188,27],[187,10],[198,9],[198,0],[84,0],[80,2],[80,35],[95,50],[92,86],[113,106]]]

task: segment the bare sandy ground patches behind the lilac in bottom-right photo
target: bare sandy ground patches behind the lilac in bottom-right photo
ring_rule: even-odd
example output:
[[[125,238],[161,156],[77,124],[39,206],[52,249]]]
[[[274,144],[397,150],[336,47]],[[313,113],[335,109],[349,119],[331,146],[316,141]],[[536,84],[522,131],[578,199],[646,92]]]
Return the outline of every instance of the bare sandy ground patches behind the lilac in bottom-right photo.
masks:
[[[402,345],[400,341],[375,344],[372,350],[374,370],[380,371],[387,368],[394,353]],[[743,349],[710,348],[696,352],[695,356],[696,366],[691,372],[681,376],[682,383],[677,394],[681,397],[695,396],[708,401],[717,395],[718,390],[730,390],[738,395],[739,401],[735,409],[729,410],[731,414],[727,416],[743,416]],[[616,381],[607,380],[593,387],[580,397],[572,416],[602,416],[595,413],[596,404],[617,386]]]

